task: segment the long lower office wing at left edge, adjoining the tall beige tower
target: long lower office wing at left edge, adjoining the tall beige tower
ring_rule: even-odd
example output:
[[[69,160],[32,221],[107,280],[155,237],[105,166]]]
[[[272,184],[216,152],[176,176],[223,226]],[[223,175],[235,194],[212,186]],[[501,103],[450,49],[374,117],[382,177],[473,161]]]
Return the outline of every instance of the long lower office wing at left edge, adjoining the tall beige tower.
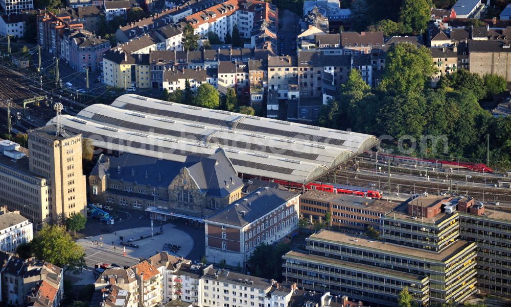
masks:
[[[6,140],[0,147],[8,148],[0,152],[0,202],[9,210],[19,211],[38,228],[49,223],[49,179],[30,171],[29,158],[19,151],[19,144]]]

